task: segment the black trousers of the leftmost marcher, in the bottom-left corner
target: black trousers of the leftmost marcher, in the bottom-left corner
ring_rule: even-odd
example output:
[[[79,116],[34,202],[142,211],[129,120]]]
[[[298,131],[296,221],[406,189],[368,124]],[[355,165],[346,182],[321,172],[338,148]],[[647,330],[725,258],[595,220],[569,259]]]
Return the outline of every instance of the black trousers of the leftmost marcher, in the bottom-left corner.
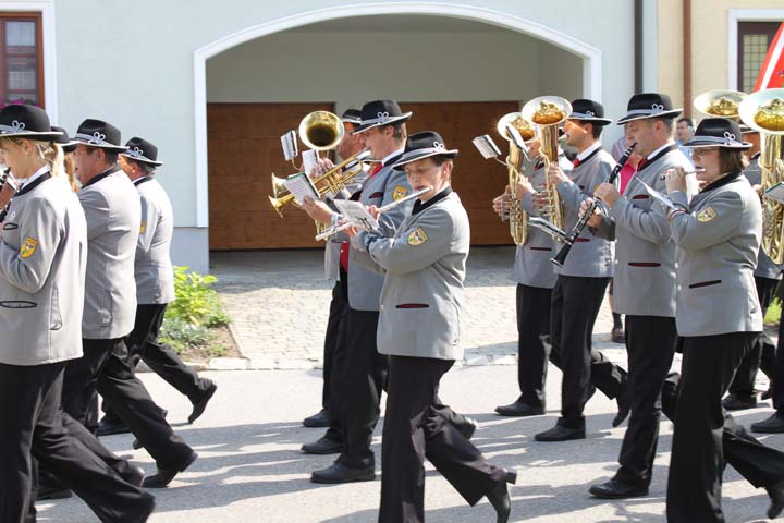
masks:
[[[135,522],[151,496],[125,483],[62,423],[65,363],[37,366],[0,364],[0,521],[25,521],[33,488],[32,455],[93,509],[103,522]],[[84,430],[93,447],[100,446]],[[32,455],[30,455],[32,454]]]

